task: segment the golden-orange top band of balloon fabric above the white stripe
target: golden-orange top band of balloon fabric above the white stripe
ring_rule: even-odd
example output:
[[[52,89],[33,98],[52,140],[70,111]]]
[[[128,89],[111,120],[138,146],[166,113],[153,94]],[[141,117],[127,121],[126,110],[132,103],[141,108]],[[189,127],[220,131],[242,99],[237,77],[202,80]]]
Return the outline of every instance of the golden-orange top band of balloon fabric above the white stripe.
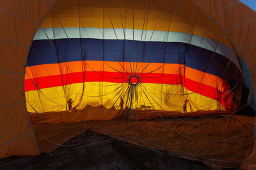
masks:
[[[176,11],[178,1],[164,1],[163,6],[161,6],[161,1],[151,0],[149,4],[154,5],[149,6],[146,18],[145,10],[147,1],[135,1],[134,9],[133,4],[130,3],[131,2],[128,2],[127,6],[124,3],[124,6],[120,8],[122,23],[117,3],[107,3],[111,17],[111,20],[109,20],[108,12],[106,8],[103,8],[105,5],[101,0],[93,1],[93,3],[90,4],[91,6],[88,5],[87,1],[80,3],[78,6],[78,4],[74,3],[70,5],[71,1],[69,0],[62,0],[55,6],[52,13],[49,13],[49,15],[45,17],[40,27],[113,28],[114,26],[115,28],[122,28],[124,25],[125,28],[129,29],[175,31],[196,34],[220,41],[232,47],[220,27],[218,27],[214,21],[210,20],[202,11],[196,9],[192,1],[180,1],[179,8],[177,8]],[[93,14],[90,7],[92,7]],[[78,8],[82,11],[79,17],[77,17]],[[161,8],[163,9],[161,10]],[[83,25],[81,23],[83,23]]]

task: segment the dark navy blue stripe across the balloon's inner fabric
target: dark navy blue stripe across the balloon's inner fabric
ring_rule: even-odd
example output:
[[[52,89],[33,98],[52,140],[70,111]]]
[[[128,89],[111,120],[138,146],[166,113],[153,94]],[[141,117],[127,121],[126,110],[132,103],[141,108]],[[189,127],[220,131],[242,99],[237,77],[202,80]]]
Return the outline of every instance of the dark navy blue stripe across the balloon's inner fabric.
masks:
[[[186,64],[188,67],[220,76],[223,80],[230,81],[230,84],[241,78],[237,66],[232,62],[228,65],[229,60],[223,55],[176,42],[84,38],[52,39],[50,43],[49,40],[36,40],[29,51],[27,66],[80,60]]]

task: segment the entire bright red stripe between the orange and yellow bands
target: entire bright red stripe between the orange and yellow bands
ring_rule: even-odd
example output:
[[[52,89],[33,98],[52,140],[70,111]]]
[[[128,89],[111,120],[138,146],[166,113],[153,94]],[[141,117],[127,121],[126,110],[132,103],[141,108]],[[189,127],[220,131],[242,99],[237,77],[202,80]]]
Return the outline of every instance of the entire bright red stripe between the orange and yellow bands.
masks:
[[[185,76],[181,76],[180,74],[143,73],[140,74],[139,77],[139,81],[141,83],[160,83],[170,85],[182,84],[184,87],[192,92],[196,92],[197,94],[201,94],[202,96],[210,97],[211,99],[219,101],[225,107],[226,111],[233,111],[234,109],[236,109],[234,108],[236,104],[234,105],[234,102],[231,99],[232,93],[225,96],[225,93],[214,87],[205,85],[197,81],[189,80],[188,78],[186,78]],[[89,81],[127,83],[129,81],[129,76],[127,73],[95,71],[68,73],[55,76],[44,76],[25,80],[25,92],[28,92],[30,90],[59,87],[72,83],[83,83]],[[228,92],[228,90],[230,90],[230,86],[226,83],[223,84],[225,84],[224,92]],[[230,102],[232,102],[233,104],[230,104]]]

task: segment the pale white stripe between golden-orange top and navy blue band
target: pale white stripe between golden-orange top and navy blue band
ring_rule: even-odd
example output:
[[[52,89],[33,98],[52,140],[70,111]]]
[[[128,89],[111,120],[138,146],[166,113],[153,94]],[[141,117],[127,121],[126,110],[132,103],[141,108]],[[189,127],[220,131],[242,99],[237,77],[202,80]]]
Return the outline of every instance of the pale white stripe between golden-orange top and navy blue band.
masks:
[[[125,37],[124,37],[125,31]],[[103,32],[103,35],[102,33]],[[115,29],[116,36],[118,39],[133,40],[133,29]],[[93,38],[93,39],[116,39],[115,32],[113,28],[92,28],[92,27],[56,27],[56,28],[39,28],[36,31],[33,40],[39,39],[64,39],[64,38]],[[47,36],[45,35],[47,34]],[[67,35],[68,37],[67,37]],[[141,34],[143,36],[141,38]],[[186,32],[167,32],[167,31],[153,31],[147,30],[142,31],[140,29],[134,29],[134,40],[136,41],[158,41],[158,42],[179,42],[188,43],[195,46],[200,46],[207,50],[211,50],[219,53],[229,60],[231,60],[240,69],[236,53],[228,45],[215,41],[213,39],[205,38],[195,34],[189,34]],[[168,36],[167,36],[168,34]],[[152,37],[151,37],[152,36]],[[168,38],[168,39],[166,39]]]

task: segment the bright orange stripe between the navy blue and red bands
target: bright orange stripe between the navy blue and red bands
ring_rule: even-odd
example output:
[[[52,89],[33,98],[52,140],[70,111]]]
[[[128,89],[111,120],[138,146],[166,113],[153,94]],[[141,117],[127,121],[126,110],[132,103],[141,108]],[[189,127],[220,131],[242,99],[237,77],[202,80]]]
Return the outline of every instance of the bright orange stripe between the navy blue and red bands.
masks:
[[[131,66],[130,66],[131,63]],[[225,80],[213,74],[204,73],[191,67],[184,67],[183,64],[162,64],[162,63],[142,63],[138,62],[112,62],[112,61],[74,61],[62,62],[60,64],[42,64],[37,66],[26,67],[25,80],[31,78],[39,78],[44,76],[55,76],[68,73],[79,73],[83,71],[106,71],[106,72],[125,72],[131,73],[131,68],[135,69],[137,66],[137,73],[160,73],[160,74],[180,74],[189,80],[197,81],[205,85],[209,85],[218,90],[223,91],[223,87],[227,86]],[[124,68],[125,70],[124,70]],[[145,68],[146,67],[146,68]],[[144,69],[145,68],[145,69]],[[144,69],[144,70],[143,70]],[[116,71],[117,70],[117,71]]]

